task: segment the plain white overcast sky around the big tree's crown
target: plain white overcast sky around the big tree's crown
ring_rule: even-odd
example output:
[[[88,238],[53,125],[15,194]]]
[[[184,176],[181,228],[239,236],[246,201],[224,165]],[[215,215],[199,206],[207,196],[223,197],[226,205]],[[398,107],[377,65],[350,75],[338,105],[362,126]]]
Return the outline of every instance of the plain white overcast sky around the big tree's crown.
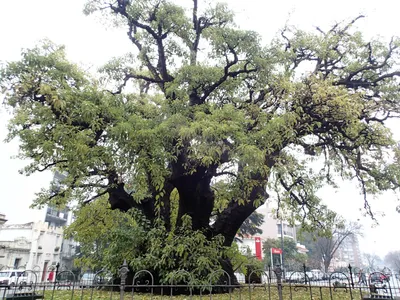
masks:
[[[66,45],[69,58],[88,67],[99,66],[112,56],[133,49],[124,30],[104,28],[95,18],[84,16],[83,3],[82,0],[1,1],[0,61],[18,59],[21,48],[32,47],[43,38]],[[273,37],[287,21],[310,30],[314,26],[326,28],[334,21],[352,18],[360,13],[367,15],[366,19],[357,23],[365,36],[380,35],[389,39],[392,35],[400,35],[400,4],[393,0],[230,0],[228,3],[237,13],[239,25],[258,31],[265,41]],[[0,212],[5,213],[11,223],[28,222],[38,216],[29,209],[34,193],[46,187],[52,175],[43,173],[25,177],[18,173],[26,162],[10,158],[17,154],[18,141],[9,144],[2,142],[7,132],[7,118],[1,108]],[[400,139],[400,129],[396,125],[400,124],[391,127]],[[362,217],[359,209],[363,199],[354,183],[343,183],[339,191],[326,188],[321,195],[344,217],[360,219],[364,224],[365,237],[360,241],[363,252],[383,256],[390,250],[400,250],[400,239],[395,234],[395,230],[400,228],[400,221],[399,214],[395,212],[398,202],[394,195],[385,194],[373,201],[375,209],[385,214],[379,218],[380,225],[375,228],[371,228],[372,223],[368,218]]]

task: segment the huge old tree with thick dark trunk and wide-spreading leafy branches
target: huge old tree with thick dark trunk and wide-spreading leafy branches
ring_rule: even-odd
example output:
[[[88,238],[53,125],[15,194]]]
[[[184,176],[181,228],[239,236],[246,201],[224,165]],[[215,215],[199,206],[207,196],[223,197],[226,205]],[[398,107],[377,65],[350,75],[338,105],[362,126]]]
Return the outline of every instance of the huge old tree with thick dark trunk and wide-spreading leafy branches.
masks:
[[[191,236],[188,227],[203,237],[194,245],[230,246],[271,192],[311,228],[334,218],[316,191],[338,176],[358,180],[370,215],[367,194],[398,188],[385,121],[399,115],[399,40],[365,41],[355,19],[312,33],[285,28],[264,47],[226,5],[197,0],[92,0],[85,11],[125,28],[136,50],[96,77],[45,42],[1,71],[9,139],[31,160],[25,173],[67,174],[37,205],[107,197],[111,209],[161,226],[168,238],[152,247],[162,252],[182,228]],[[149,253],[139,246],[130,247]],[[189,248],[165,265],[153,253],[152,267],[179,269],[201,247]],[[231,273],[224,253],[217,261]]]

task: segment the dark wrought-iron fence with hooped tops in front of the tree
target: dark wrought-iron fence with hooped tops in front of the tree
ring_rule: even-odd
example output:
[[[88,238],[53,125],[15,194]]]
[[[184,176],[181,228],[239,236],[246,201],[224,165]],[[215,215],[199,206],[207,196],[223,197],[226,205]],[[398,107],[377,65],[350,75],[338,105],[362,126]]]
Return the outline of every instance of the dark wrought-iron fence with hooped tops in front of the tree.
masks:
[[[168,284],[157,284],[148,270],[129,274],[126,263],[114,276],[106,271],[78,274],[66,270],[50,275],[52,271],[10,273],[9,279],[0,281],[0,299],[400,299],[398,274],[363,276],[354,274],[351,266],[323,275],[313,275],[306,268],[286,274],[279,267],[267,268],[237,276],[239,280],[216,271],[202,285],[184,270],[176,271]]]

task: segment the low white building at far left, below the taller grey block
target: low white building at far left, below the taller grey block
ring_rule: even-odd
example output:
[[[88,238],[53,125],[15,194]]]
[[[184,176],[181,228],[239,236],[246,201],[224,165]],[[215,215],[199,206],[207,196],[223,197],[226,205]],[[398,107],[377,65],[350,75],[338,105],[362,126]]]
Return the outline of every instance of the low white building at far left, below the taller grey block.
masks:
[[[0,265],[5,268],[47,271],[60,262],[63,228],[45,222],[3,225]],[[42,280],[45,280],[43,273]]]

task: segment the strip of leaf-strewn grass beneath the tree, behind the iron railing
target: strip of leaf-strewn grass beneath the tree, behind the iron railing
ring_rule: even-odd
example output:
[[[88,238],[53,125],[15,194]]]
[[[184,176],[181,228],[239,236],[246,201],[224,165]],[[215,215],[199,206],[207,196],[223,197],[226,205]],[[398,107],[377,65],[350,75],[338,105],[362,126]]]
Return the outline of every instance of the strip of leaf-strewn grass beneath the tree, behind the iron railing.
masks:
[[[125,292],[123,299],[133,299],[133,300],[161,300],[161,299],[174,299],[174,300],[189,300],[189,299],[213,299],[213,300],[228,300],[228,299],[243,299],[243,300],[279,300],[278,290],[276,286],[271,286],[268,290],[268,287],[256,287],[251,288],[251,293],[249,292],[248,286],[243,286],[240,289],[235,289],[231,294],[213,294],[210,296],[207,292],[204,292],[202,296],[200,295],[180,295],[180,296],[170,296],[168,295],[154,295],[150,294],[138,294],[134,293],[132,296],[132,292]],[[291,293],[290,293],[291,291]],[[283,299],[291,299],[291,300],[323,300],[323,299],[332,299],[332,300],[351,300],[350,291],[347,292],[344,289],[339,290],[330,290],[327,287],[317,287],[313,286],[311,289],[312,298],[310,295],[310,289],[305,287],[295,287],[292,286],[289,289],[288,286],[283,288]],[[360,292],[357,290],[352,290],[353,299],[362,299]],[[321,297],[322,296],[322,297]],[[72,295],[71,290],[64,291],[46,291],[45,299],[54,299],[54,300],[105,300],[105,299],[120,299],[119,292],[110,292],[110,291],[98,291],[91,289],[84,290],[74,290],[74,294]]]

